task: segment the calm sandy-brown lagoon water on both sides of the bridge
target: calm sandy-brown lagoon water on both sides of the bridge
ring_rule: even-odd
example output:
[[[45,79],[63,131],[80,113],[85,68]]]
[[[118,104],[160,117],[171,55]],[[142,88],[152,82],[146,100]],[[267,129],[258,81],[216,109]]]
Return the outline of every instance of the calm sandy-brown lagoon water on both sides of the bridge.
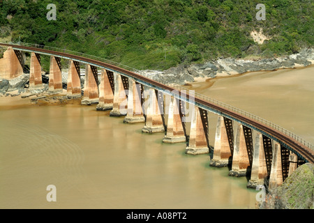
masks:
[[[313,74],[253,72],[189,88],[313,143]],[[212,146],[216,118],[209,116]],[[143,126],[96,106],[0,98],[0,208],[255,208],[247,178],[209,167],[209,155],[186,155],[186,144],[164,144],[164,133],[144,134]],[[47,185],[56,186],[56,202],[47,201]]]

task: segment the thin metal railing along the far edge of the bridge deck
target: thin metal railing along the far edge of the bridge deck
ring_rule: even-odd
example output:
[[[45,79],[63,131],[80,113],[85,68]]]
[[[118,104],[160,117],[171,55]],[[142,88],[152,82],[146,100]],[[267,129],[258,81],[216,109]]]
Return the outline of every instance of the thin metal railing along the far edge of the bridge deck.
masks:
[[[21,42],[19,42],[19,43],[14,43],[14,44],[22,45],[22,46],[25,46],[25,47],[36,47],[36,48],[39,48],[39,49],[50,49],[50,50],[56,51],[56,52],[63,52],[63,53],[67,53],[67,54],[73,54],[73,55],[76,55],[76,56],[83,56],[83,57],[88,58],[88,59],[94,59],[96,61],[102,61],[104,63],[110,63],[110,64],[112,64],[114,66],[119,66],[120,68],[124,68],[126,70],[130,70],[130,71],[133,71],[133,72],[138,72],[139,71],[139,70],[137,70],[135,68],[131,68],[129,66],[125,66],[124,64],[121,64],[121,63],[110,61],[108,59],[103,59],[103,58],[100,58],[98,56],[92,56],[92,55],[84,54],[84,53],[81,53],[81,52],[75,52],[75,51],[72,51],[72,50],[69,50],[69,49],[61,49],[61,48],[57,48],[57,47],[48,47],[48,46],[37,45],[37,44],[32,44],[32,43],[21,43]],[[147,78],[149,78],[149,77],[147,77]],[[267,121],[264,118],[260,118],[259,116],[255,116],[254,114],[251,114],[251,113],[246,112],[244,110],[238,109],[237,107],[233,107],[232,105],[227,105],[227,104],[225,104],[223,102],[220,102],[220,101],[218,101],[218,100],[216,100],[214,98],[209,98],[209,97],[207,97],[205,95],[202,95],[200,93],[197,93],[195,91],[193,91],[193,93],[189,94],[190,90],[184,88],[183,86],[177,86],[176,85],[176,86],[172,86],[172,87],[174,87],[175,89],[177,89],[179,91],[186,91],[187,95],[195,95],[195,98],[200,98],[202,100],[210,102],[211,104],[218,105],[218,106],[223,107],[225,109],[228,109],[228,110],[230,110],[232,112],[240,114],[241,116],[246,116],[247,118],[251,118],[254,121],[257,121],[259,123],[267,125],[268,127],[273,128],[274,130],[277,130],[278,132],[281,132],[281,133],[287,135],[288,137],[291,137],[292,139],[298,141],[300,144],[303,144],[304,146],[310,148],[311,150],[314,150],[313,144],[309,143],[308,141],[305,141],[304,139],[299,137],[297,134],[294,134],[293,132],[291,132],[289,130],[286,130],[285,128],[282,128],[279,125],[271,123],[270,121]]]

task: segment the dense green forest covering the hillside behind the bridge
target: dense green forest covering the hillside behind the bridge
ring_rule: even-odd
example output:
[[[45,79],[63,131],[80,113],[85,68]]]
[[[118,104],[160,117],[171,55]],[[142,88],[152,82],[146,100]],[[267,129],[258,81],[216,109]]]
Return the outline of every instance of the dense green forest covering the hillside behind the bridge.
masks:
[[[57,20],[47,20],[47,5]],[[257,3],[266,20],[257,20]],[[71,49],[137,69],[272,57],[314,43],[313,0],[0,0],[0,42]],[[259,45],[250,36],[270,37]]]

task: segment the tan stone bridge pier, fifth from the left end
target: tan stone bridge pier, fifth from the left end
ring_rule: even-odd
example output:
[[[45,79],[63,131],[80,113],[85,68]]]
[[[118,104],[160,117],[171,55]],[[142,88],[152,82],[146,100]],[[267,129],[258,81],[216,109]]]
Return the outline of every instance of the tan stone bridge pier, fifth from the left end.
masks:
[[[98,96],[98,70],[89,64],[85,69],[84,96],[82,105],[91,105],[99,102]]]

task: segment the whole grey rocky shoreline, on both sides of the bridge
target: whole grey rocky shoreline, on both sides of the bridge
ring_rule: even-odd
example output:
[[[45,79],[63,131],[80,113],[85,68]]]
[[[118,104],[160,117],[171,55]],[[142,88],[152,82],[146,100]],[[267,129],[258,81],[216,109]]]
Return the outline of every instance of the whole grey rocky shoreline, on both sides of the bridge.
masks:
[[[314,49],[302,49],[298,54],[272,59],[217,59],[190,66],[179,65],[167,70],[137,70],[137,73],[167,85],[184,85],[195,81],[205,81],[214,77],[238,75],[245,72],[278,70],[311,66],[314,63]],[[81,70],[81,86],[84,88],[84,70]],[[98,73],[100,77],[100,72]],[[43,72],[43,88],[29,89],[29,74],[15,79],[0,79],[0,95],[15,96],[21,93],[47,93],[49,75]],[[67,70],[62,72],[63,89],[66,89]],[[100,78],[98,78],[100,79]],[[84,90],[84,89],[83,89]]]

